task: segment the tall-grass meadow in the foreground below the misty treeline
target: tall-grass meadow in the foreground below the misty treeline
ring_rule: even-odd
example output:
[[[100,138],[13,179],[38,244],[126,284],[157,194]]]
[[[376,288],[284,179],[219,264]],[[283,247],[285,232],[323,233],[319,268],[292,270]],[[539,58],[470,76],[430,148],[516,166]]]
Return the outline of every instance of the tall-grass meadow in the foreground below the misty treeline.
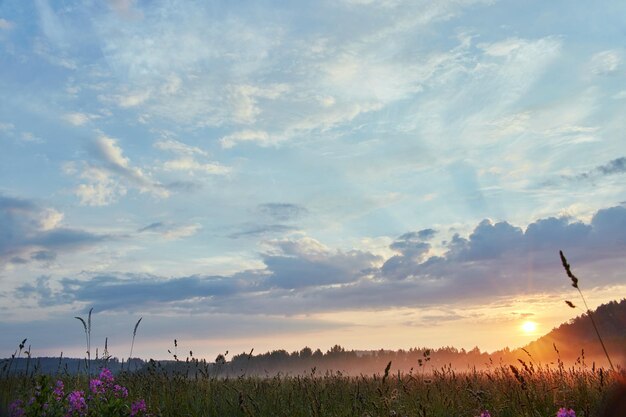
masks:
[[[151,362],[142,372],[116,375],[115,383],[128,389],[128,403],[142,398],[155,416],[471,417],[488,411],[493,417],[534,417],[571,408],[581,417],[615,415],[603,410],[619,378],[604,369],[537,368],[521,361],[517,367],[470,372],[443,367],[428,374],[393,373],[388,366],[384,373],[360,377],[312,371],[306,376],[218,378],[197,362],[186,365],[186,371],[172,373]],[[5,374],[0,381],[3,407],[15,399],[28,401],[36,385],[53,385],[57,379],[66,391],[90,390],[84,374],[42,378]],[[129,408],[109,415],[129,415]]]

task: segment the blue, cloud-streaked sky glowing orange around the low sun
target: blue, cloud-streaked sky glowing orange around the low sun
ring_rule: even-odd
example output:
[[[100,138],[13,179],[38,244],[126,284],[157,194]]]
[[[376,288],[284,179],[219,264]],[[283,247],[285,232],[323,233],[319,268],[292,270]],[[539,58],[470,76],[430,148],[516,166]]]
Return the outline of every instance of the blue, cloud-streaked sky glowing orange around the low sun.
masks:
[[[522,346],[626,296],[626,3],[0,0],[0,357]],[[526,321],[535,331],[522,330]],[[530,328],[530,327],[527,327]]]

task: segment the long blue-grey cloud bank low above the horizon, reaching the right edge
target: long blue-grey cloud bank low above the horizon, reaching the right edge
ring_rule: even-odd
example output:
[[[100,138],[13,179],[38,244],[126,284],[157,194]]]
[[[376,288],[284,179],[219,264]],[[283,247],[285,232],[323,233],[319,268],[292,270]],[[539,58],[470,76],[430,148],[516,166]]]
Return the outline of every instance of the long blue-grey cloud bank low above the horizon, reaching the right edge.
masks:
[[[82,242],[80,233],[70,236]],[[261,270],[232,276],[66,277],[55,290],[42,277],[20,287],[17,295],[36,297],[42,305],[79,302],[98,311],[168,305],[189,312],[286,315],[489,302],[566,289],[559,250],[581,276],[581,285],[591,288],[623,283],[626,208],[599,210],[588,224],[550,217],[522,229],[484,220],[469,236],[457,234],[445,242],[439,256],[431,252],[435,238],[432,229],[407,232],[391,244],[396,255],[388,259],[359,250],[330,251],[306,238],[273,241]],[[48,235],[33,239],[64,241]]]

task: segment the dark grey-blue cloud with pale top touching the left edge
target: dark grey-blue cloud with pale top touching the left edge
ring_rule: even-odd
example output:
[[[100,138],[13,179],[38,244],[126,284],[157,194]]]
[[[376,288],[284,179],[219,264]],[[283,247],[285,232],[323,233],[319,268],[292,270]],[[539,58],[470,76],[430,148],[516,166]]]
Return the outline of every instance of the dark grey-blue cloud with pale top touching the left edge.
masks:
[[[0,195],[0,260],[54,260],[58,252],[72,252],[109,239],[62,225],[63,214],[30,200]]]

